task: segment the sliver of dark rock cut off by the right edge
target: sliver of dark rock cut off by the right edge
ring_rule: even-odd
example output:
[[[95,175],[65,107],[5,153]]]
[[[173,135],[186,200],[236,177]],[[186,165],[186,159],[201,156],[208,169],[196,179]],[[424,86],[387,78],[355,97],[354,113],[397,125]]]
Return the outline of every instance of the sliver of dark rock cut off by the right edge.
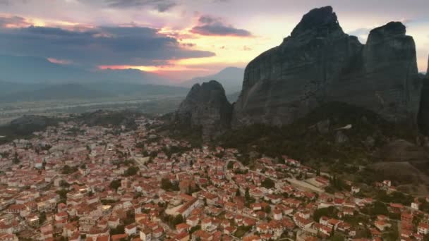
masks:
[[[418,112],[418,128],[423,135],[429,136],[429,58],[428,71],[423,78],[423,88],[421,89],[420,111]]]

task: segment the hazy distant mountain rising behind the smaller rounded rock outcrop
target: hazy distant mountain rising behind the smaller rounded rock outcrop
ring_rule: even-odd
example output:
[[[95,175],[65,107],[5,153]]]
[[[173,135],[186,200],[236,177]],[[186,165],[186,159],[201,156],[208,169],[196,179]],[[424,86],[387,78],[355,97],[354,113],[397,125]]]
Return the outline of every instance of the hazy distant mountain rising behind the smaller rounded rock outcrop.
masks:
[[[241,90],[241,85],[243,83],[243,68],[228,67],[221,70],[219,73],[214,75],[207,75],[203,77],[196,77],[192,80],[187,80],[181,82],[180,85],[184,87],[192,87],[195,84],[202,84],[203,82],[208,82],[210,80],[216,80],[221,83],[225,89],[226,94],[231,94],[234,92],[239,92]]]

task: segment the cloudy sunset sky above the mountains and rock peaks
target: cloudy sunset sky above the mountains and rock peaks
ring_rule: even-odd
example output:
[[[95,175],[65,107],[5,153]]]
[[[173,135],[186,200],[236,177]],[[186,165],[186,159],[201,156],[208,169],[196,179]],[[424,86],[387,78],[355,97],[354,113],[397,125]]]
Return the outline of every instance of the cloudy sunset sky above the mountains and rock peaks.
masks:
[[[426,71],[428,0],[0,0],[0,54],[181,81],[245,67],[279,45],[303,14],[327,5],[363,44],[374,27],[401,21]]]

